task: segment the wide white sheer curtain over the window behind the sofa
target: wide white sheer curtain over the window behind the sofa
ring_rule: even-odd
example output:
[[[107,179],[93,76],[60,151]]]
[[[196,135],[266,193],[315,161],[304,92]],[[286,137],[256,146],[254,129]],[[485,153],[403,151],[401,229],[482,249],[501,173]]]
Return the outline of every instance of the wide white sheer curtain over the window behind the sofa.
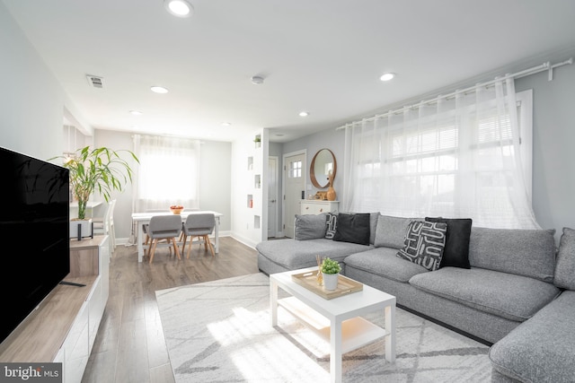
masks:
[[[524,180],[516,105],[507,79],[350,124],[342,211],[539,229]]]

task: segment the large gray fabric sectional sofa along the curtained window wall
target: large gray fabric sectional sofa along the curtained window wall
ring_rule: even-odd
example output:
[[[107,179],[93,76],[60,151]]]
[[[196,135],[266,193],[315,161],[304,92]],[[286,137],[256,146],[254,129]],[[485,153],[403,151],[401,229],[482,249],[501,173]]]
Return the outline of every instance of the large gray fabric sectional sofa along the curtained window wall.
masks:
[[[558,250],[554,231],[470,223],[467,242],[447,238],[443,248],[444,254],[449,246],[467,254],[430,269],[398,257],[411,222],[425,218],[370,213],[366,227],[367,214],[360,214],[363,226],[338,238],[340,228],[328,227],[328,214],[297,215],[294,239],[259,243],[261,272],[311,267],[316,255],[331,257],[343,274],[393,294],[399,307],[491,345],[494,381],[575,381],[575,231],[563,230]],[[450,231],[450,220],[439,221],[447,222],[439,227],[452,239],[461,232],[456,226]],[[368,242],[362,236],[354,243],[358,230],[369,231]]]

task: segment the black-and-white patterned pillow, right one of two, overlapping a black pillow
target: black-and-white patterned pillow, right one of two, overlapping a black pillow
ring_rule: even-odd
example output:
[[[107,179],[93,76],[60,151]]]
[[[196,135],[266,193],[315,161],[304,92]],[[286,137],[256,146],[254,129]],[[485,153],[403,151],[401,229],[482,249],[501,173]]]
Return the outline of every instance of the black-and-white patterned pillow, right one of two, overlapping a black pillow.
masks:
[[[411,221],[397,257],[437,270],[446,246],[447,223]]]

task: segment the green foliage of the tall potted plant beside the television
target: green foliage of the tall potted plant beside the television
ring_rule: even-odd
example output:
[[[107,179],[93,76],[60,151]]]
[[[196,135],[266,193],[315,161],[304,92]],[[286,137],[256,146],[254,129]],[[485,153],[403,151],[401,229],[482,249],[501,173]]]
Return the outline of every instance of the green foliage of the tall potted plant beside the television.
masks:
[[[128,150],[114,151],[106,147],[91,149],[86,146],[75,151],[72,156],[57,156],[50,160],[62,159],[69,170],[70,188],[78,201],[78,214],[75,220],[85,220],[86,204],[95,191],[108,202],[113,190],[122,191],[132,182],[133,170],[128,161],[120,157],[127,152],[137,163],[136,154]]]

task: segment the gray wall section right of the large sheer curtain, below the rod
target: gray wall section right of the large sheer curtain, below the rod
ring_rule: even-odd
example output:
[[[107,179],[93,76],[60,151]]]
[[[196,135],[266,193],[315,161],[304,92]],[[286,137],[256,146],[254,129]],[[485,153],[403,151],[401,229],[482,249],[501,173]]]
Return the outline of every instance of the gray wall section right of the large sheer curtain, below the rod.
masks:
[[[575,64],[554,69],[553,81],[542,72],[515,87],[533,89],[533,208],[537,222],[559,239],[563,227],[575,228]]]

